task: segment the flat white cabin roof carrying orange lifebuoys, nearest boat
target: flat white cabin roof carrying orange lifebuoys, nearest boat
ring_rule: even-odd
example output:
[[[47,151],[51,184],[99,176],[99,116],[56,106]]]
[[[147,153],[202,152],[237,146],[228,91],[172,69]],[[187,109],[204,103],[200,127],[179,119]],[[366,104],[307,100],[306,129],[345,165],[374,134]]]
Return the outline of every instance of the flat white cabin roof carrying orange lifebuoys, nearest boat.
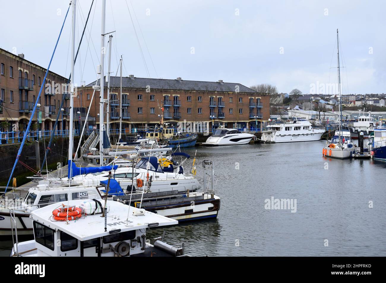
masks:
[[[83,203],[83,200],[75,200],[65,202],[70,206],[75,205],[77,207]],[[99,199],[102,206],[105,201]],[[102,236],[110,235],[110,231],[115,229],[120,229],[120,232],[132,231],[137,229],[149,228],[149,223],[158,223],[158,226],[167,226],[178,224],[177,220],[161,216],[149,211],[145,211],[144,215],[134,216],[133,211],[139,211],[139,208],[134,208],[117,201],[107,201],[110,210],[107,213],[107,231],[105,232],[105,218],[102,218],[102,213],[97,213],[94,215],[82,216],[82,218],[77,220],[68,221],[55,221],[52,219],[52,211],[61,206],[62,204],[56,203],[45,206],[43,208],[32,211],[30,218],[33,220],[48,226],[51,229],[56,229],[63,231],[74,238],[80,241],[86,241]],[[129,225],[127,225],[127,213],[130,208],[129,213]],[[110,225],[109,225],[110,224]]]

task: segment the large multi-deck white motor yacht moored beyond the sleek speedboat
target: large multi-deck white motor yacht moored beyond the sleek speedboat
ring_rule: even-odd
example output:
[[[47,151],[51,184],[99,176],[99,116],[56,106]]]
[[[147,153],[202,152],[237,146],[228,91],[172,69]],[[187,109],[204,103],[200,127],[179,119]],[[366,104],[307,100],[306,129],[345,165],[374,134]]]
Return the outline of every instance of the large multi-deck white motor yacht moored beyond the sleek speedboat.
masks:
[[[267,130],[262,132],[262,142],[302,142],[319,141],[325,131],[313,129],[312,124],[305,120],[294,120],[293,122],[268,125]]]

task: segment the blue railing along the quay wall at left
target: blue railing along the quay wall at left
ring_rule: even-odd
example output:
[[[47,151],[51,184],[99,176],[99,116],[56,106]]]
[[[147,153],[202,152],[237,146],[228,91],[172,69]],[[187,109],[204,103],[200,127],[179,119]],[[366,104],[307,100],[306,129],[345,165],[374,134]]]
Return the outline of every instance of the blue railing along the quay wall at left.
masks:
[[[92,130],[91,130],[92,131]],[[1,132],[0,144],[14,144],[21,142],[25,131],[20,132]],[[27,134],[27,141],[39,141],[51,137],[52,131],[29,131]],[[60,130],[54,132],[54,137],[68,137],[69,130]],[[79,136],[79,130],[74,131],[74,136]]]

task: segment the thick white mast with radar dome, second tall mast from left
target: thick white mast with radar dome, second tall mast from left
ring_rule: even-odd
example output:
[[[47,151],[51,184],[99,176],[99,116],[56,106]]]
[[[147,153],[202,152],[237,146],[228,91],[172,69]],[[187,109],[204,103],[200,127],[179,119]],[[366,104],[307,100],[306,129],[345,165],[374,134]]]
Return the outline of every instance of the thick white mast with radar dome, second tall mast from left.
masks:
[[[106,20],[106,0],[102,0],[102,28],[101,28],[101,41],[100,41],[100,103],[99,103],[99,154],[100,154],[100,166],[103,166],[103,90],[105,88],[105,20]]]

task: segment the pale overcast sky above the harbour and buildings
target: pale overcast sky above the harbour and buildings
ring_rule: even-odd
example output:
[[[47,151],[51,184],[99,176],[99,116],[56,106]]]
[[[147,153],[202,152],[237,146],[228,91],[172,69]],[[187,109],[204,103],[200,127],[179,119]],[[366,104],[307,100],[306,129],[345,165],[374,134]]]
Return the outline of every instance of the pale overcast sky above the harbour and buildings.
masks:
[[[0,1],[0,47],[47,67],[69,0]],[[91,1],[77,1],[76,48]],[[124,76],[268,83],[279,93],[306,94],[337,83],[338,28],[342,93],[386,93],[385,10],[385,1],[107,0],[111,75],[119,76],[122,55]],[[94,0],[75,66],[78,84],[97,77],[101,15],[102,0]],[[70,40],[71,8],[50,68],[65,77]],[[108,50],[108,36],[105,42]],[[107,62],[108,52],[106,73]]]

